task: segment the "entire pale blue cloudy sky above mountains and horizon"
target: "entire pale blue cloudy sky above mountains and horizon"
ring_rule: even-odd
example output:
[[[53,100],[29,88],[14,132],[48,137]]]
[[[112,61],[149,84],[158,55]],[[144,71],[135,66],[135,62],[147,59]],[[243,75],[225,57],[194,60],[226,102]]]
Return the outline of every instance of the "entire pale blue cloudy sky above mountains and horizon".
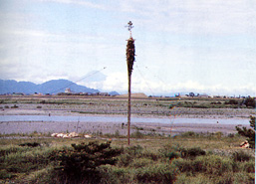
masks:
[[[0,79],[101,92],[256,95],[255,0],[1,0]]]

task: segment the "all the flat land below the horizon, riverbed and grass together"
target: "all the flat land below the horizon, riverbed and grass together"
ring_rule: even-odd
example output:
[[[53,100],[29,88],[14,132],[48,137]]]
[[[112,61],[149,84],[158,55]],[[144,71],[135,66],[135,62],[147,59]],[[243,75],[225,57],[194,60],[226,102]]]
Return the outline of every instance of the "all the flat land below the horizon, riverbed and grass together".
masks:
[[[239,135],[235,126],[249,128],[250,115],[255,116],[255,109],[242,105],[243,99],[235,99],[237,104],[230,104],[230,100],[132,98],[128,146],[127,98],[1,96],[0,180],[3,183],[254,183],[255,150],[240,147],[246,137]],[[8,128],[20,131],[7,132]],[[51,136],[53,132],[72,131],[79,136]],[[92,137],[85,138],[85,134]],[[95,151],[96,147],[106,149]],[[94,152],[87,158],[92,163],[100,163],[96,155],[111,151],[111,158],[102,158],[113,162],[96,164],[95,168],[81,167],[83,150],[87,155]],[[69,159],[73,157],[77,158],[77,166],[74,172],[68,172]]]

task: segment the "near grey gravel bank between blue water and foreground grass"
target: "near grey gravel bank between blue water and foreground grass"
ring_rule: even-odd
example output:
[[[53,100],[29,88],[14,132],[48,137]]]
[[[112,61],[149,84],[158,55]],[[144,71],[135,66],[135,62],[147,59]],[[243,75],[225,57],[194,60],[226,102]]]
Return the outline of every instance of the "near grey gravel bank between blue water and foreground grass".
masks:
[[[130,133],[139,131],[141,133],[179,134],[186,131],[194,132],[217,132],[223,134],[236,133],[237,124],[221,123],[152,123],[131,122]],[[249,125],[243,125],[249,127]],[[13,121],[0,122],[0,133],[53,133],[53,132],[78,132],[89,134],[122,134],[128,132],[125,122],[67,122],[67,121]]]

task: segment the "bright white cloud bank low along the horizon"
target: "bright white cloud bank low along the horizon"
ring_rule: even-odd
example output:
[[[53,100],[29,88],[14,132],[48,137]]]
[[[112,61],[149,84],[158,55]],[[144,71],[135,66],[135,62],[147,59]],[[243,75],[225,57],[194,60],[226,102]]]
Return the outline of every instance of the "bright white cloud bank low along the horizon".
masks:
[[[115,73],[109,75],[106,80],[98,82],[83,83],[86,87],[98,89],[101,92],[117,91],[128,92],[128,76],[125,73]],[[207,94],[241,94],[255,95],[256,87],[252,83],[247,85],[237,85],[232,88],[221,84],[202,85],[196,81],[185,81],[165,84],[163,81],[145,80],[143,78],[131,77],[131,92],[144,92],[147,95],[171,95],[177,92],[199,92]]]

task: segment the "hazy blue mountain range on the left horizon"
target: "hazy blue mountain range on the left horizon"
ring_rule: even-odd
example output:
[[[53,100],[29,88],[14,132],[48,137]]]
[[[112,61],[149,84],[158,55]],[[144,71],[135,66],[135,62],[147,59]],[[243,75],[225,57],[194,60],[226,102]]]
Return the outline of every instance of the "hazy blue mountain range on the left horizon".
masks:
[[[84,86],[77,85],[68,80],[52,80],[41,85],[31,82],[16,82],[14,80],[0,80],[0,93],[59,93],[65,92],[69,88],[71,92],[99,92],[98,90],[89,89]]]

